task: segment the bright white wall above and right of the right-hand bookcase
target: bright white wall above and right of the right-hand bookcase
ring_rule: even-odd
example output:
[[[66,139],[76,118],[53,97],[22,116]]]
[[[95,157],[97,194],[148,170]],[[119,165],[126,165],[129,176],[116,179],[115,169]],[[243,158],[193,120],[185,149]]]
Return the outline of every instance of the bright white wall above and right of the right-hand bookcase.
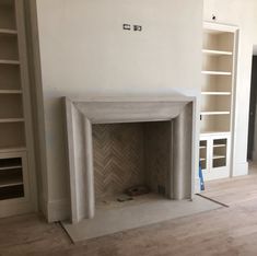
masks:
[[[253,45],[257,43],[256,0],[205,0],[203,19],[215,14],[219,23],[240,27],[238,67],[236,88],[234,175],[247,174],[247,135]]]

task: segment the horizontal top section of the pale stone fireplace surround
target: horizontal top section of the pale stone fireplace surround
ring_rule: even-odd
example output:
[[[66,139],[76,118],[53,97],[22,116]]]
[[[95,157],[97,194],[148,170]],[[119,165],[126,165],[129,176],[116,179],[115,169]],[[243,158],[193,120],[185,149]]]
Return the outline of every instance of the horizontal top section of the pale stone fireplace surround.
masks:
[[[115,124],[135,121],[171,120],[179,115],[185,105],[196,97],[91,97],[70,100],[66,105],[72,106],[78,115],[83,115],[92,124]]]

